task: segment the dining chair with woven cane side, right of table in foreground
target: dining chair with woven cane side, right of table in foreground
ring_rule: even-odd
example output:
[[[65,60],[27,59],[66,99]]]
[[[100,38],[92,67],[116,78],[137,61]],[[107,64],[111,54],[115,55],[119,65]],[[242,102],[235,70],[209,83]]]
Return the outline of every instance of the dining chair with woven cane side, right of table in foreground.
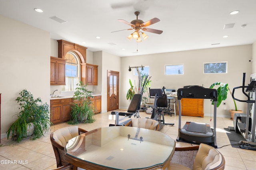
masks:
[[[166,170],[224,170],[224,156],[209,145],[175,148]]]

